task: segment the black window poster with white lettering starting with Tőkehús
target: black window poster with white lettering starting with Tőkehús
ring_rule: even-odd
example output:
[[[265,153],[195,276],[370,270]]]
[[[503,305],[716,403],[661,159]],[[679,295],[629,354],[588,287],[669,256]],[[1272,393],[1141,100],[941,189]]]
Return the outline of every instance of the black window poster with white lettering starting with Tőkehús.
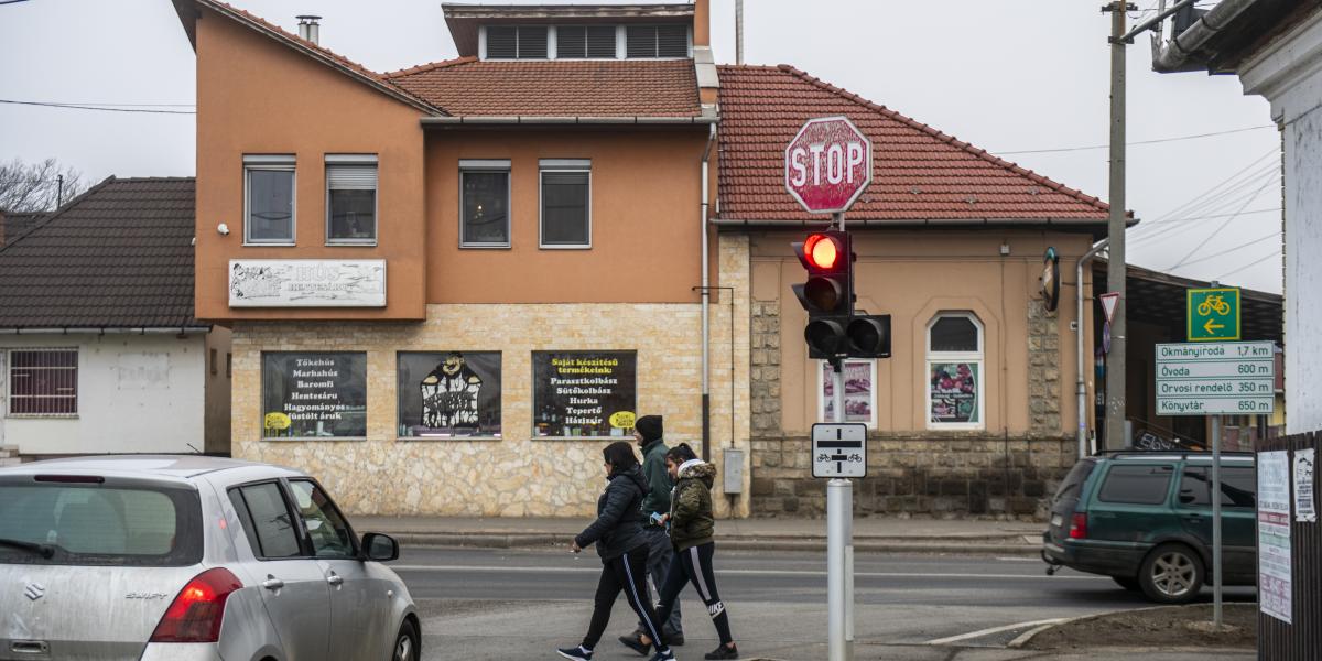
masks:
[[[263,353],[262,438],[368,436],[366,353]]]

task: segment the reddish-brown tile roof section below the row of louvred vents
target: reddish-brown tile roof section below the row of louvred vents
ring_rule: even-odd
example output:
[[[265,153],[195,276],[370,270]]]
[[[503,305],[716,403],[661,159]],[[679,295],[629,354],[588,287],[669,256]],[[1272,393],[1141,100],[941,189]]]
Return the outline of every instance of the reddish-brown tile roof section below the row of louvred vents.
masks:
[[[385,74],[451,115],[695,116],[691,59],[479,61],[461,57]]]

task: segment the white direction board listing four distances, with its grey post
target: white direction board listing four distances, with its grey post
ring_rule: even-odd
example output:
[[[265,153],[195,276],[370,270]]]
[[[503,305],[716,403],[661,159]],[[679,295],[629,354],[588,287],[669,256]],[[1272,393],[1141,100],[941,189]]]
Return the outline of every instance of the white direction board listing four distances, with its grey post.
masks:
[[[1192,300],[1190,296],[1191,307]],[[1237,333],[1237,316],[1235,321]],[[1212,595],[1218,628],[1222,625],[1222,415],[1263,415],[1274,408],[1272,342],[1157,345],[1157,414],[1212,418]]]

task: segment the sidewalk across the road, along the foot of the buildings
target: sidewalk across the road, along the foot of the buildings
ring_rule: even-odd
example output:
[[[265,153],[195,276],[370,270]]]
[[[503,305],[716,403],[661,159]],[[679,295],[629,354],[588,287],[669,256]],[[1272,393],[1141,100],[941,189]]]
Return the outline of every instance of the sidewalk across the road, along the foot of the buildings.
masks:
[[[567,545],[586,518],[350,517],[360,533],[394,535],[405,546],[488,549]],[[854,520],[858,553],[952,553],[1035,557],[1042,524],[869,517]],[[743,518],[717,521],[717,542],[728,550],[821,551],[826,520]]]

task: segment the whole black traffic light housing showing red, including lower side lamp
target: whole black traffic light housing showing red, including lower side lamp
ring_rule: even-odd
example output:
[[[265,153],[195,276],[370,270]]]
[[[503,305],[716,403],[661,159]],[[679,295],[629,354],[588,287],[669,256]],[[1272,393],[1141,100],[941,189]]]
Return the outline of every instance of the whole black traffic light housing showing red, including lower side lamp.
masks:
[[[793,243],[793,249],[808,271],[808,280],[793,286],[808,311],[808,357],[890,358],[891,316],[854,313],[854,246],[849,233],[816,231]]]

